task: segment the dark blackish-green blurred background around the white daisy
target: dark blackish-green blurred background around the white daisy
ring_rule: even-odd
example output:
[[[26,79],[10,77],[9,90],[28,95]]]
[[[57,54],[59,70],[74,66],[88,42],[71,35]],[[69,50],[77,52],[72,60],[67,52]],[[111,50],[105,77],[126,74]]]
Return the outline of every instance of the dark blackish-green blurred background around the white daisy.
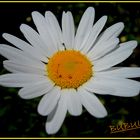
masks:
[[[95,7],[97,21],[108,15],[105,28],[122,21],[125,29],[120,35],[121,42],[137,40],[140,43],[140,3],[0,3],[0,43],[7,43],[2,33],[7,32],[23,38],[19,31],[21,23],[35,28],[31,12],[52,11],[61,23],[63,11],[73,13],[76,27],[81,15],[89,6]],[[104,28],[104,29],[105,29]],[[7,73],[3,69],[3,58],[0,56],[0,74]],[[140,66],[140,45],[134,53],[119,66]],[[140,81],[139,78],[135,79]],[[110,133],[110,125],[117,126],[123,122],[140,121],[140,95],[131,98],[117,96],[101,96],[108,111],[108,116],[97,119],[83,111],[79,117],[68,115],[59,132],[53,136],[45,132],[46,117],[37,113],[40,98],[23,100],[18,96],[18,89],[0,87],[0,137],[139,137],[140,128],[126,132]]]

